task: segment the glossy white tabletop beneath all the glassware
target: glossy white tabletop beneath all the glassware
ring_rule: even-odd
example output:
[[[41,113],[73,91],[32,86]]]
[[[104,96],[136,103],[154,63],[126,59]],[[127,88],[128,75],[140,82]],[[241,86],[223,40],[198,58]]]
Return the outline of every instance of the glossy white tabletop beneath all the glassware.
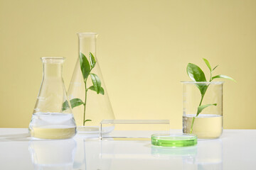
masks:
[[[172,130],[181,132],[181,130]],[[31,140],[26,129],[0,129],[0,169],[256,169],[256,130],[224,130],[196,147],[159,148],[150,141]]]

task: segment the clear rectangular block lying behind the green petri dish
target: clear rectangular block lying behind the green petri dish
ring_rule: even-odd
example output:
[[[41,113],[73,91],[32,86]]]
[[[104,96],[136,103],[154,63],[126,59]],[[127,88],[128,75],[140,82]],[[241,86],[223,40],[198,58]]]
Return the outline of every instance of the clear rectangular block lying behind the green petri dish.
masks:
[[[108,128],[112,127],[115,130],[108,133]],[[100,140],[150,140],[152,132],[169,132],[169,130],[169,120],[102,120]]]

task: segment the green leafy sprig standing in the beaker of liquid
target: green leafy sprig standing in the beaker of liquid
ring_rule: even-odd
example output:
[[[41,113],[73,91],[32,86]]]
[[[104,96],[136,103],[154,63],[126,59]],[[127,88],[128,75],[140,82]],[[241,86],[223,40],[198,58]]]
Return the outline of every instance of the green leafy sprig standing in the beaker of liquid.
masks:
[[[190,77],[192,81],[202,82],[201,84],[196,84],[199,91],[201,92],[201,101],[199,103],[196,116],[194,116],[192,119],[190,133],[193,132],[193,124],[195,122],[195,118],[198,117],[198,115],[203,111],[203,109],[208,108],[209,106],[217,106],[217,103],[202,105],[203,97],[206,95],[206,91],[208,89],[208,86],[210,85],[210,84],[207,84],[207,82],[213,81],[213,79],[218,79],[218,78],[230,79],[235,81],[233,78],[225,76],[223,74],[219,74],[213,77],[212,76],[213,71],[218,67],[218,65],[215,66],[213,69],[211,69],[210,62],[208,62],[208,60],[206,60],[205,58],[203,58],[203,61],[206,63],[208,69],[210,70],[209,81],[206,80],[206,75],[204,74],[202,69],[198,67],[196,64],[188,63],[188,66],[186,67],[186,72],[188,74],[188,77]],[[203,83],[203,82],[206,82],[206,83]]]

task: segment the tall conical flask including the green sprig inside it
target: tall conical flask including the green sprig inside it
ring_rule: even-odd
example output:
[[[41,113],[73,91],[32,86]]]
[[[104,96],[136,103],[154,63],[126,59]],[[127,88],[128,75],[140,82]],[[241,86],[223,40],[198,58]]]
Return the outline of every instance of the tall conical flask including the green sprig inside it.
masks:
[[[68,96],[78,132],[98,133],[103,119],[114,119],[99,62],[96,57],[97,33],[78,33],[79,54],[70,81]],[[104,129],[110,132],[114,127]]]

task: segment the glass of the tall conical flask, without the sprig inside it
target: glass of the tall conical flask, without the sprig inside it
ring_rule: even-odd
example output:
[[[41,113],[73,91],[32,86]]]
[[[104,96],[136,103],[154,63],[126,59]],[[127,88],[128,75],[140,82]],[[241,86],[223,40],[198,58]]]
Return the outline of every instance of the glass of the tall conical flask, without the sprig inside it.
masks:
[[[73,98],[80,98],[85,103],[85,92],[86,94],[86,105],[80,105],[73,108],[73,114],[75,117],[75,122],[78,125],[78,132],[85,134],[99,134],[99,124],[103,119],[114,119],[114,113],[112,111],[112,106],[110,104],[110,99],[107,94],[107,89],[100,71],[99,61],[96,55],[96,38],[97,33],[78,33],[79,38],[79,52],[78,60],[75,64],[75,69],[73,72],[73,77],[70,81],[70,86],[68,89],[68,96],[70,100]],[[104,89],[104,95],[97,94],[95,91],[89,89],[93,86],[92,79],[90,75],[87,78],[86,85],[82,77],[82,72],[80,68],[80,52],[87,57],[88,62],[90,62],[90,52],[95,57],[96,64],[92,68],[91,73],[96,74],[101,82],[101,87]],[[85,86],[87,91],[85,91]],[[91,120],[86,121],[85,120]],[[108,128],[108,132],[113,130],[114,127]]]

